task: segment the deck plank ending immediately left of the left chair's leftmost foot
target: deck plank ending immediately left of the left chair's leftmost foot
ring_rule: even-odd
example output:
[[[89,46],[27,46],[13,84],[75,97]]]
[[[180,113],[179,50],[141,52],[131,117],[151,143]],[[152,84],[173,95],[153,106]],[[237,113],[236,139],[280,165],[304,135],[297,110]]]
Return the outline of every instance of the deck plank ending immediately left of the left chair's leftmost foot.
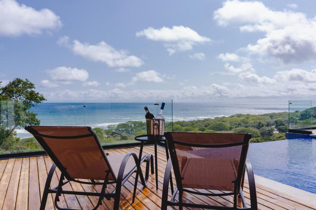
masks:
[[[40,209],[40,180],[37,158],[30,157],[29,161],[28,209]]]

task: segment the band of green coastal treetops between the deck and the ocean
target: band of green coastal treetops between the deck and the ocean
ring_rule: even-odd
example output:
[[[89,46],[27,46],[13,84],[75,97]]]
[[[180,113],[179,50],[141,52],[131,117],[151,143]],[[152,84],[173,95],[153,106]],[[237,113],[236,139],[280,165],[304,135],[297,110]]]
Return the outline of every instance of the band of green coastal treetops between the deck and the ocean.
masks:
[[[287,127],[288,112],[263,115],[236,114],[229,117],[206,118],[203,120],[167,122],[166,131],[251,133],[251,142],[266,142],[285,139],[285,132],[278,129]],[[280,129],[280,130],[281,130]],[[102,145],[134,142],[134,136],[146,134],[146,123],[128,121],[107,127],[94,128]],[[278,133],[277,133],[278,132]],[[33,138],[19,139],[15,133],[1,145],[1,153],[42,150]]]

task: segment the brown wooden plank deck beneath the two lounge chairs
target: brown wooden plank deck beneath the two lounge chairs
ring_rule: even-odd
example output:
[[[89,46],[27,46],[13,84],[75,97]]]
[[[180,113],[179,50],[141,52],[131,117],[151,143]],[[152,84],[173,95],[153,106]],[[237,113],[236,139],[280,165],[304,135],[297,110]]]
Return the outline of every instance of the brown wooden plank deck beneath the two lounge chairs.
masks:
[[[129,152],[138,153],[139,147],[107,150],[109,153],[126,154]],[[153,146],[144,147],[143,153],[154,153]],[[27,157],[17,159],[6,159],[0,162],[0,209],[39,209],[42,192],[44,189],[47,173],[52,165],[48,156]],[[144,165],[144,163],[143,163]],[[155,188],[155,174],[150,175],[147,188],[140,191],[142,185],[138,182],[138,190],[135,202],[132,204],[132,191],[134,175],[125,182],[122,187],[120,207],[121,209],[160,209],[163,174],[166,166],[165,149],[158,147],[158,181],[159,190]],[[144,171],[144,168],[143,168]],[[52,179],[52,185],[58,184],[60,171],[56,169]],[[175,183],[175,180],[174,182]],[[52,186],[53,187],[53,186]],[[100,191],[100,186],[88,186],[86,184],[68,183],[65,190]],[[113,186],[106,190],[112,191]],[[211,191],[216,193],[216,191]],[[232,196],[206,197],[184,194],[185,202],[213,204],[219,206],[232,206]],[[55,195],[49,194],[46,209],[54,209],[53,198]],[[245,183],[244,196],[248,205],[249,189]],[[286,195],[257,184],[257,197],[259,209],[316,209],[316,206],[301,201],[295,197]],[[60,206],[74,209],[91,209],[97,202],[97,197],[93,196],[61,196]],[[241,203],[239,203],[241,205]],[[113,200],[104,199],[103,205],[98,209],[112,209]]]

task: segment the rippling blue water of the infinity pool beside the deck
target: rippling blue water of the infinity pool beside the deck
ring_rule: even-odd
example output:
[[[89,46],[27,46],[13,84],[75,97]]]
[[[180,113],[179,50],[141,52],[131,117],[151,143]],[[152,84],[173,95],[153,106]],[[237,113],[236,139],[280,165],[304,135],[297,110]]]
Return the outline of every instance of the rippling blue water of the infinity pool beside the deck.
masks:
[[[316,193],[316,139],[253,143],[247,158],[256,175]]]

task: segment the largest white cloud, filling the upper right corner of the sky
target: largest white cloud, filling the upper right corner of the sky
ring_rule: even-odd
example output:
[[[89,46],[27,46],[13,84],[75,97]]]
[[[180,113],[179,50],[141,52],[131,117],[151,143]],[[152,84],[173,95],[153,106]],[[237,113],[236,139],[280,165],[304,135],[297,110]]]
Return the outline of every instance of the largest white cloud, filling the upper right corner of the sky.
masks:
[[[247,49],[255,54],[271,56],[283,63],[316,59],[316,19],[304,13],[276,11],[262,2],[226,1],[214,12],[220,26],[238,25],[240,31],[263,31],[265,37]]]

